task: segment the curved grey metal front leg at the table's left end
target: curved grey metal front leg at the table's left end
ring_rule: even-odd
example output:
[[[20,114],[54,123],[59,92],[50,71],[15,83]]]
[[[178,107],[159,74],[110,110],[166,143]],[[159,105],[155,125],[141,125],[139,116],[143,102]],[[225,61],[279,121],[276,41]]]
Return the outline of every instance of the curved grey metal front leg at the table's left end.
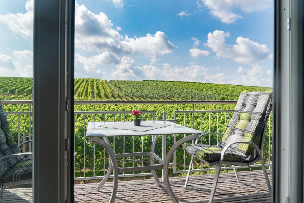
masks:
[[[110,158],[110,160],[112,162],[113,171],[114,171],[113,172],[113,176],[114,176],[113,188],[112,188],[112,193],[111,193],[111,197],[110,197],[109,203],[113,203],[114,200],[115,200],[115,198],[116,198],[117,187],[118,187],[118,166],[117,166],[116,156],[115,156],[115,154],[114,154],[114,152],[113,152],[113,150],[111,148],[111,145],[109,145],[104,140],[101,140],[99,138],[91,137],[90,138],[90,142],[102,146],[109,153],[109,158]]]

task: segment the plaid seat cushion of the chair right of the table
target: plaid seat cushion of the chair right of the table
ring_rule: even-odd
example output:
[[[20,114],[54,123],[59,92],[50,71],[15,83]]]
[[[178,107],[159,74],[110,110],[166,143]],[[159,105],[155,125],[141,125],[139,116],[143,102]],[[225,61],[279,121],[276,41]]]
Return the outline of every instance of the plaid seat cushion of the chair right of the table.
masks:
[[[181,145],[182,149],[188,152],[191,155],[194,155],[200,159],[212,163],[219,161],[223,148],[220,148],[216,145],[200,145],[200,144],[191,144],[184,143]],[[246,157],[241,154],[234,152],[226,151],[224,156],[224,161],[233,161],[233,162],[244,162],[248,163],[250,160],[246,160]]]

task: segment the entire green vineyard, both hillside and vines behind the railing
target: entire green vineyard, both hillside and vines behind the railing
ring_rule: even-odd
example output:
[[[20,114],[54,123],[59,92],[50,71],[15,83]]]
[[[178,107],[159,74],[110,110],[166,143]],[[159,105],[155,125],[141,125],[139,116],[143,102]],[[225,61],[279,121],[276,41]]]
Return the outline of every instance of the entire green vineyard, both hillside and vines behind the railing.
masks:
[[[75,99],[76,100],[237,100],[239,94],[243,90],[261,91],[271,88],[252,87],[252,86],[235,86],[222,85],[199,82],[173,82],[173,81],[127,81],[127,80],[100,80],[100,79],[75,79],[74,81]],[[30,91],[29,91],[30,90]],[[32,99],[32,78],[10,78],[0,77],[0,100],[31,100]],[[5,111],[29,111],[29,105],[3,105]],[[195,110],[223,110],[234,109],[235,104],[196,104]],[[155,111],[155,119],[162,119],[162,112],[167,111],[167,119],[173,119],[174,110],[192,110],[192,105],[187,104],[157,104],[157,105],[135,105],[136,110]],[[133,105],[75,105],[75,111],[131,111]],[[86,114],[86,124],[89,121],[113,121],[113,114]],[[232,113],[226,114],[226,125],[229,123]],[[29,115],[20,115],[20,135],[26,132],[29,134]],[[194,118],[194,122],[192,122]],[[217,121],[218,118],[218,121]],[[116,121],[123,120],[123,114],[115,115]],[[125,115],[126,120],[132,120],[131,114]],[[151,120],[151,114],[145,114],[144,120]],[[18,115],[8,116],[12,134],[16,141],[18,140]],[[32,121],[32,117],[31,117]],[[201,124],[202,121],[202,124]],[[188,126],[190,128],[199,129],[202,131],[223,133],[225,131],[225,114],[211,113],[209,127],[209,113],[178,114],[177,123]],[[194,124],[194,126],[192,125]],[[31,126],[32,128],[32,126]],[[32,130],[31,130],[32,131]],[[270,130],[272,131],[272,129]],[[33,132],[33,131],[32,131]],[[35,137],[35,135],[33,135]],[[42,135],[43,136],[43,135]],[[183,135],[177,135],[177,140]],[[219,137],[220,139],[221,137]],[[267,163],[268,146],[271,145],[272,139],[269,139],[269,131],[267,130],[263,156]],[[143,139],[143,142],[142,142]],[[167,136],[167,152],[173,145],[173,135]],[[113,138],[111,138],[111,143]],[[85,143],[84,143],[85,142]],[[149,150],[151,146],[151,136],[135,136],[134,150],[140,152],[142,148]],[[217,137],[211,136],[210,143],[216,145]],[[115,138],[115,152],[123,152],[123,137]],[[209,144],[209,137],[202,138],[203,144]],[[75,115],[75,176],[84,176],[84,144],[85,148],[85,165],[86,176],[92,175],[93,169],[93,145],[88,138],[84,138],[84,114]],[[162,138],[157,138],[156,153],[161,157],[162,153]],[[113,144],[112,144],[113,147]],[[125,153],[133,152],[133,137],[125,138]],[[103,150],[98,145],[95,146],[95,175],[103,175],[103,164],[108,167],[109,157],[105,153],[103,159]],[[184,152],[178,149],[176,152],[177,167],[183,169]],[[186,154],[186,167],[188,167],[190,156]],[[195,168],[199,168],[199,160],[195,160]],[[203,167],[207,167],[204,165]],[[161,174],[160,171],[157,173]]]

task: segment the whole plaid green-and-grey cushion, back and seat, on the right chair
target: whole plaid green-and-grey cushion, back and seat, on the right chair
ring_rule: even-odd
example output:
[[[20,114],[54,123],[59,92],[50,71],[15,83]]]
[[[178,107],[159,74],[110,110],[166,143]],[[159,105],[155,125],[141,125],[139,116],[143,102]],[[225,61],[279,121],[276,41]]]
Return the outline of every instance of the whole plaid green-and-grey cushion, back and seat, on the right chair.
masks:
[[[218,161],[223,148],[232,142],[252,142],[261,148],[263,130],[270,114],[272,91],[240,94],[230,123],[218,145],[185,143],[182,148],[209,163]],[[255,158],[254,147],[234,144],[225,153],[224,161],[250,162]]]

